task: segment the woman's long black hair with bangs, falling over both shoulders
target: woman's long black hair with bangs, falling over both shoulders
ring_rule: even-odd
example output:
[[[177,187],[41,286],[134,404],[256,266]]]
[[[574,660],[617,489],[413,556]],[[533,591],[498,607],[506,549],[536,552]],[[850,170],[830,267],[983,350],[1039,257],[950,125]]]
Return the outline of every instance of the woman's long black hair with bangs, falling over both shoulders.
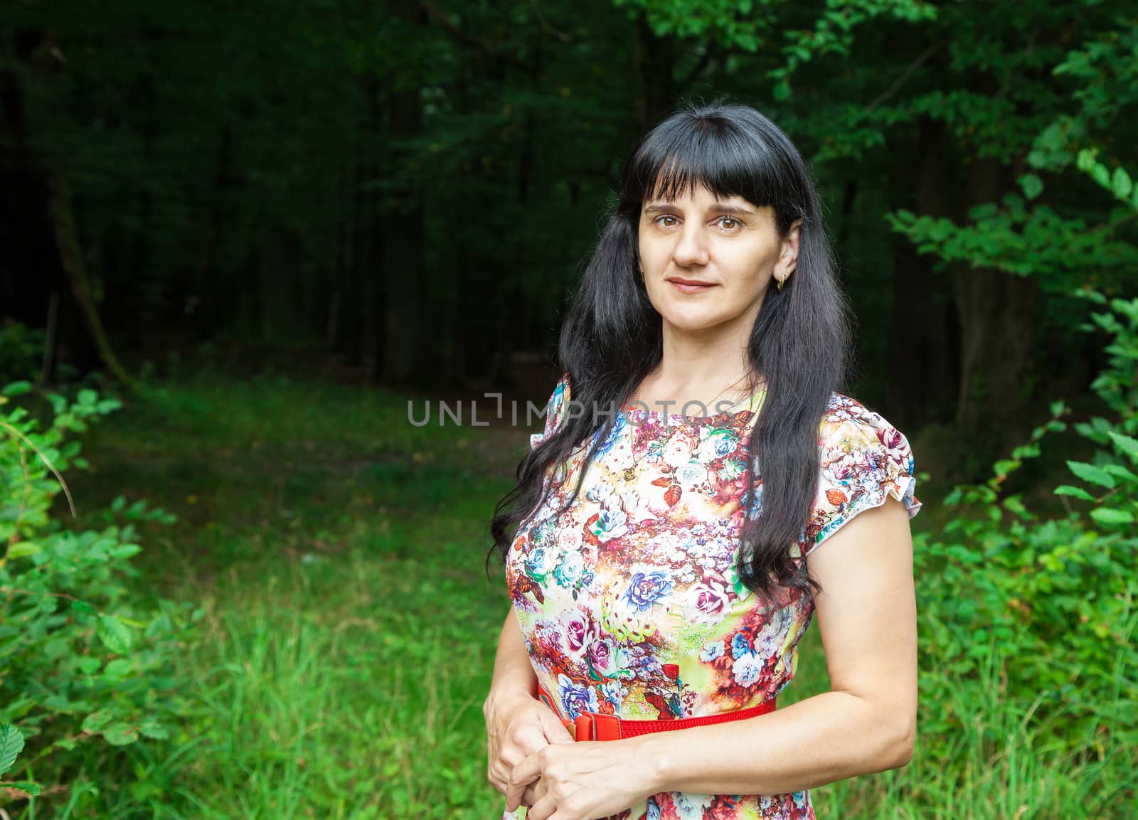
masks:
[[[846,375],[851,312],[810,172],[778,126],[749,106],[716,100],[684,105],[641,140],[624,166],[615,212],[561,328],[559,364],[569,375],[572,401],[584,407],[619,407],[657,366],[662,321],[637,274],[641,208],[646,197],[674,199],[696,185],[723,199],[739,196],[770,206],[780,238],[802,221],[794,271],[782,291],[767,289],[748,341],[751,367],[766,382],[766,394],[748,444],[735,570],[768,602],[776,585],[813,594],[820,585],[809,577],[805,560],[794,562],[790,546],[800,540],[814,506],[819,424]],[[577,489],[562,510],[576,499],[596,448],[616,423],[613,415],[600,419],[566,413],[521,461],[517,486],[495,507],[487,563],[495,550],[505,557],[518,524],[545,499],[547,469],[563,464],[592,437]]]

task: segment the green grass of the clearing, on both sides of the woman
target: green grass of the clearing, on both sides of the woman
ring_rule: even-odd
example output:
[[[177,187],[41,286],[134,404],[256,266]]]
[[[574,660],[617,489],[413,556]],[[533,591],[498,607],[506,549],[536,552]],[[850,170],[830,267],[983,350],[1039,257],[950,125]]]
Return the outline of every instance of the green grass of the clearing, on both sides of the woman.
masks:
[[[418,429],[401,397],[283,379],[170,384],[98,425],[98,471],[71,482],[81,510],[123,494],[181,519],[148,527],[137,561],[141,591],[201,603],[179,661],[198,707],[181,737],[131,747],[137,782],[100,781],[93,760],[26,817],[497,817],[481,701],[509,604],[483,571],[485,528],[528,432]],[[813,789],[819,818],[1125,817],[1133,751],[1098,735],[1036,748],[1031,704],[1001,701],[999,673],[922,704],[973,731]],[[811,626],[781,702],[827,687]],[[101,810],[67,807],[86,800]]]

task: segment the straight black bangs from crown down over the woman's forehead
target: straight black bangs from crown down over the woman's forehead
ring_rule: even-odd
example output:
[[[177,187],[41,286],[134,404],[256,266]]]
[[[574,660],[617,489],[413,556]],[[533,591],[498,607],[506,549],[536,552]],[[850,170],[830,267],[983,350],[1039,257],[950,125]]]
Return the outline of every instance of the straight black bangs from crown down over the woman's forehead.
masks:
[[[662,123],[625,166],[621,208],[638,220],[643,202],[673,201],[701,187],[719,199],[737,196],[758,207],[773,206],[785,217],[786,202],[777,193],[777,149],[762,139],[762,123],[749,125],[744,131],[727,118],[694,111]]]

